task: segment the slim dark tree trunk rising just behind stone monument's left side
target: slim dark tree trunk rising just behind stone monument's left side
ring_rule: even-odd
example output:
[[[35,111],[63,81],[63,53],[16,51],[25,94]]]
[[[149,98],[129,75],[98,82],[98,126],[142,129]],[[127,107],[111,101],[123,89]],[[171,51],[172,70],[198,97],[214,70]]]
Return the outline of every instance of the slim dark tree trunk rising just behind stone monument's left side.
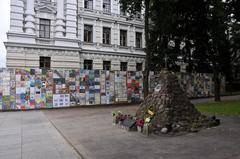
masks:
[[[144,77],[143,77],[143,92],[144,92],[144,98],[148,96],[149,93],[149,86],[148,86],[148,78],[149,78],[149,71],[150,71],[150,50],[149,50],[149,2],[150,0],[145,0],[145,53],[146,53],[146,58],[145,58],[145,70],[144,70]]]

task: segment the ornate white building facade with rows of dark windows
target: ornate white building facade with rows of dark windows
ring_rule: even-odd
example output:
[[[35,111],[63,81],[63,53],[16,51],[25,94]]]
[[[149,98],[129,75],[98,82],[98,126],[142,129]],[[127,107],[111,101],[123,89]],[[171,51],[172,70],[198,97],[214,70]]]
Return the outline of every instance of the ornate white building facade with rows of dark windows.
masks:
[[[144,68],[144,25],[118,0],[11,0],[8,68]]]

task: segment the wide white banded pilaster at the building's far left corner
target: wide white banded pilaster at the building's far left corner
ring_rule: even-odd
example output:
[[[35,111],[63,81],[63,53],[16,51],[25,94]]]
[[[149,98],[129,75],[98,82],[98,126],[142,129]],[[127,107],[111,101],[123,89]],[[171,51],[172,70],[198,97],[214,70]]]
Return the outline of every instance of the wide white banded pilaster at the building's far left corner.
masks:
[[[10,32],[23,33],[24,4],[20,0],[11,0]]]

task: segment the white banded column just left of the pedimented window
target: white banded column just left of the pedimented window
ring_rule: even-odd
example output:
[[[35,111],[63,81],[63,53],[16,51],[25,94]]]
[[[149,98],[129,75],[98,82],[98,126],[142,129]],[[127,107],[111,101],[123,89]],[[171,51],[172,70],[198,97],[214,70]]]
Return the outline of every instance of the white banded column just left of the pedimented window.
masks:
[[[34,1],[27,0],[27,10],[26,10],[26,33],[35,34],[35,12],[34,12]]]

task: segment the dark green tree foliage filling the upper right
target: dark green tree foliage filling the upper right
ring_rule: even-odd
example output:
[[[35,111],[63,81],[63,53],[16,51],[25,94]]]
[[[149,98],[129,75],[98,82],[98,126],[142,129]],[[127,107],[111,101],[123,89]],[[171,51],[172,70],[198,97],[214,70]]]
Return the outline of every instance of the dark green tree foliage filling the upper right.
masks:
[[[213,73],[218,94],[219,75],[231,81],[232,68],[240,72],[239,0],[120,0],[120,3],[130,19],[140,10],[145,11],[146,70],[159,71],[167,65],[168,69],[179,71],[176,62],[180,59],[188,64],[188,72]],[[174,45],[170,46],[170,42]]]

